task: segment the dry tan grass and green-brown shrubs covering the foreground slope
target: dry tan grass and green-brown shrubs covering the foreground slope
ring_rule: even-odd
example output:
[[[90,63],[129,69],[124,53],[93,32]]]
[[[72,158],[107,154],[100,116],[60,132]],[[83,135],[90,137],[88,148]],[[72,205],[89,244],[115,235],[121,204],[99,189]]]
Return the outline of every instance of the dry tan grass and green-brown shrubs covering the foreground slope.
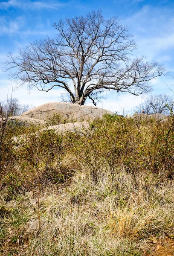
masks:
[[[0,130],[0,255],[140,256],[174,236],[172,113],[39,130]]]

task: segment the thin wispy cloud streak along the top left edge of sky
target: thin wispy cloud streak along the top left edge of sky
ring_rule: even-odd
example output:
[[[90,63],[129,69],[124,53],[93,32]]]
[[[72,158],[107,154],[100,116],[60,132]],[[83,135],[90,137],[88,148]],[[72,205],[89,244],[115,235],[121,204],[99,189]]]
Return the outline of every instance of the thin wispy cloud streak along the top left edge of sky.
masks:
[[[0,9],[9,9],[9,8],[19,8],[19,9],[58,9],[61,6],[64,6],[64,3],[59,3],[58,1],[35,1],[26,0],[9,0],[7,2],[0,3]]]

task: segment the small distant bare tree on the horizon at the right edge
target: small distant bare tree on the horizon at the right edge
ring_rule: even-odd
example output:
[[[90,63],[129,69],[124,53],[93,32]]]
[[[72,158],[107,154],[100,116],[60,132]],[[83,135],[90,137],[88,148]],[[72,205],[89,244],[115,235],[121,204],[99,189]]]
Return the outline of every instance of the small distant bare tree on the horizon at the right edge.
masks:
[[[144,110],[146,114],[152,113],[164,113],[170,114],[173,100],[166,94],[154,94],[148,96],[148,98],[135,108],[135,111],[142,113]]]

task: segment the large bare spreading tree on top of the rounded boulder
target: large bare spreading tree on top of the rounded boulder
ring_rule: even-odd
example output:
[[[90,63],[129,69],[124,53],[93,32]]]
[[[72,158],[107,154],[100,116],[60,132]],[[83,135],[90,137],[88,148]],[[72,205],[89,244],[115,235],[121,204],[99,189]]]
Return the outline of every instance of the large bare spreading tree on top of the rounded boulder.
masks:
[[[20,79],[20,85],[46,92],[61,87],[72,103],[84,105],[89,98],[96,105],[101,90],[147,93],[149,81],[164,73],[155,61],[132,58],[136,44],[117,17],[104,20],[99,10],[53,26],[58,31],[54,39],[35,41],[17,56],[9,55],[7,69],[14,68],[11,78]]]

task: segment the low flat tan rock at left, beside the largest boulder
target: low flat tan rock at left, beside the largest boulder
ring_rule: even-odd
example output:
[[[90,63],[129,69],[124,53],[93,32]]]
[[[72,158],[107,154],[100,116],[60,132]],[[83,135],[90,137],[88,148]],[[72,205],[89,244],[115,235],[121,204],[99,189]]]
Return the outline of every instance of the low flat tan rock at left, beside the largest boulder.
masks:
[[[5,118],[0,118],[0,123],[1,122],[5,122]],[[46,123],[46,121],[44,120],[39,120],[39,119],[35,119],[35,118],[30,118],[30,117],[26,117],[26,116],[10,116],[8,118],[8,121],[11,122],[13,125],[17,124],[19,126],[29,126],[31,124],[35,124],[35,125],[44,125]]]

